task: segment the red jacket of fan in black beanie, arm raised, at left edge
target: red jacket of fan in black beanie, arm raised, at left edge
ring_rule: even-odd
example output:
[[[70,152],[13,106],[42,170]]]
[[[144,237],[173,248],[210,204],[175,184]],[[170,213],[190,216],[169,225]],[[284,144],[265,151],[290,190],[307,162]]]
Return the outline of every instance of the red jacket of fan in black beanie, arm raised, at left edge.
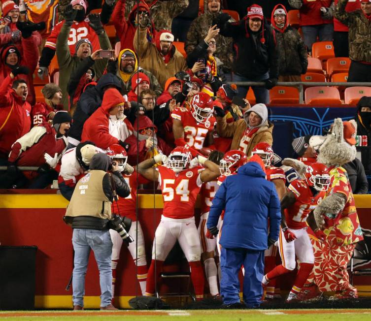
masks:
[[[5,54],[8,51],[9,47],[14,47],[14,45],[8,45],[3,47],[1,50],[1,61],[0,61],[0,83],[2,83],[12,71],[10,67],[5,64]],[[27,82],[27,87],[29,94],[27,96],[27,101],[34,105],[35,103],[35,91],[34,91],[34,79],[33,74],[37,66],[38,60],[38,48],[34,37],[29,38],[22,38],[22,48],[23,48],[23,55],[22,51],[20,52],[20,60],[18,61],[18,65],[27,66],[30,69],[30,73],[28,75],[17,75],[15,79],[24,79]],[[17,48],[18,49],[18,48]]]

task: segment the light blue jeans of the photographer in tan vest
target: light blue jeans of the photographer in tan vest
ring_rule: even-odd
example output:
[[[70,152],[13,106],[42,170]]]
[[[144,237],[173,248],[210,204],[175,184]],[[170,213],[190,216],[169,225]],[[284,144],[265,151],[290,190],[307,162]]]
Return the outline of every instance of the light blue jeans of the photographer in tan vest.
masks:
[[[88,268],[90,249],[94,252],[99,269],[101,284],[101,307],[111,304],[112,300],[112,241],[108,230],[73,229],[72,234],[73,260],[72,298],[73,305],[84,306],[85,274]]]

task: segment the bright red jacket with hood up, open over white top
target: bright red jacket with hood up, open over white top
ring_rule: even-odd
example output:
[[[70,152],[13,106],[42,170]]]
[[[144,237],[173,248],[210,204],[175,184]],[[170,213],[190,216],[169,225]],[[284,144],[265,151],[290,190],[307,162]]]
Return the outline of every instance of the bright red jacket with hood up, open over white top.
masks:
[[[92,141],[101,149],[107,149],[108,146],[112,144],[118,144],[118,139],[109,134],[109,110],[124,102],[124,97],[117,89],[107,89],[103,95],[101,107],[99,107],[84,124],[81,142],[87,140]]]

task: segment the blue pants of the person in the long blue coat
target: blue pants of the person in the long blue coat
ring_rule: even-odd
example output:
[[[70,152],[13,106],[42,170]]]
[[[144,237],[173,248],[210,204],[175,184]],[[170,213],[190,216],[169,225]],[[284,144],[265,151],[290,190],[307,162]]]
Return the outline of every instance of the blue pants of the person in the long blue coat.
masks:
[[[222,247],[220,268],[222,280],[220,294],[225,304],[239,303],[238,273],[245,268],[243,279],[243,301],[248,308],[258,308],[263,296],[264,251],[243,248],[226,249]]]

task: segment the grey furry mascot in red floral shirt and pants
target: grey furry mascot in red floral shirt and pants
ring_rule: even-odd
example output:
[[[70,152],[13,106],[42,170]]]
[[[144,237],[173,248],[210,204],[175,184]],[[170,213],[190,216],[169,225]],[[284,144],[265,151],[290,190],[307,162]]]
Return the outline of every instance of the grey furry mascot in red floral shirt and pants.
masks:
[[[325,198],[313,211],[318,229],[309,234],[315,260],[302,289],[302,300],[321,296],[325,291],[335,291],[334,299],[358,297],[357,289],[349,283],[347,263],[363,236],[348,176],[341,167],[356,157],[356,132],[355,121],[342,122],[337,118],[327,136],[312,136],[309,141],[319,152],[317,162],[329,167],[331,181]],[[299,160],[285,159],[283,164],[300,174],[306,170]]]

